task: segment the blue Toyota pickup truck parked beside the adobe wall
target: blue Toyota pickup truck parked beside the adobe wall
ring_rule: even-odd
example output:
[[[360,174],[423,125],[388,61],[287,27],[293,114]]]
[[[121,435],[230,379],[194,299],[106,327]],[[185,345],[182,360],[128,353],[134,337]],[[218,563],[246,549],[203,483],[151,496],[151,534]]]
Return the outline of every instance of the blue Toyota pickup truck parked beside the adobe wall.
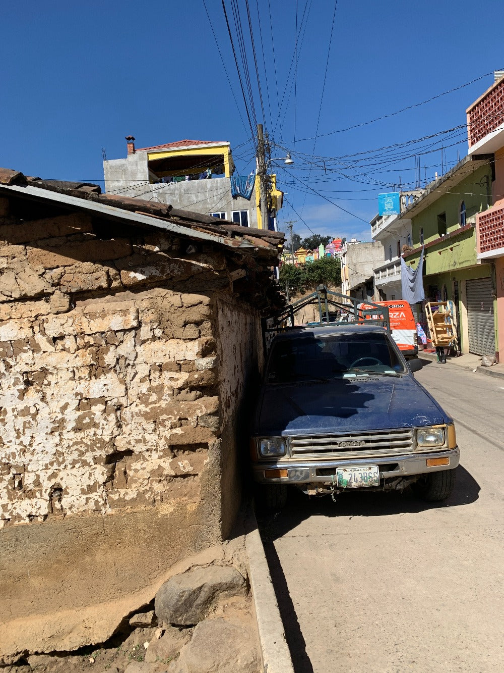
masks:
[[[384,328],[292,328],[269,349],[253,419],[259,497],[282,507],[287,485],[308,495],[413,489],[446,499],[460,452],[454,421],[415,380]]]

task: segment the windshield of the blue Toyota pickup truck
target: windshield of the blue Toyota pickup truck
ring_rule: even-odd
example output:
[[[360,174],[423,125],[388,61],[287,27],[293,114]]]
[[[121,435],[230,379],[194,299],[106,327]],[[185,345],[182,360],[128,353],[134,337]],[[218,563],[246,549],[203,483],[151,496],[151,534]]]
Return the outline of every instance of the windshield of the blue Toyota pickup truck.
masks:
[[[406,372],[385,332],[354,332],[278,341],[268,360],[266,382],[398,376]]]

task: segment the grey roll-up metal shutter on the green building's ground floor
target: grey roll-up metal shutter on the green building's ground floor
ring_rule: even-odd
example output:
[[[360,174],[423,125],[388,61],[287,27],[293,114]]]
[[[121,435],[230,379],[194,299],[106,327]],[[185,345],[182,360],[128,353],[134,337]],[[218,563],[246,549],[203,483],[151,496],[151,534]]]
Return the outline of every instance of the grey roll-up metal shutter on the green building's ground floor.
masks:
[[[489,278],[466,281],[469,351],[495,353],[492,284]]]

